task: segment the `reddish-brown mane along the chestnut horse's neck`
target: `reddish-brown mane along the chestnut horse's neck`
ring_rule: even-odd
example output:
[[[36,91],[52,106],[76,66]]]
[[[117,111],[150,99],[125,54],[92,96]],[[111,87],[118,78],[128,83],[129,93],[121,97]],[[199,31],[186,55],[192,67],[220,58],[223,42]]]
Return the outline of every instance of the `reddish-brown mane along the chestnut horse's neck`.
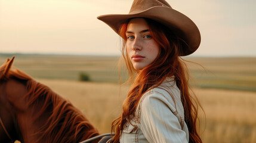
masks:
[[[51,91],[47,86],[36,82],[26,73],[16,69],[8,70],[5,76],[0,75],[0,80],[16,79],[26,83],[27,94],[24,96],[27,105],[35,108],[39,103],[42,107],[39,111],[33,111],[33,120],[38,120],[42,115],[45,118],[44,125],[35,133],[38,141],[46,142],[79,142],[98,135],[88,119],[75,108],[69,101]]]

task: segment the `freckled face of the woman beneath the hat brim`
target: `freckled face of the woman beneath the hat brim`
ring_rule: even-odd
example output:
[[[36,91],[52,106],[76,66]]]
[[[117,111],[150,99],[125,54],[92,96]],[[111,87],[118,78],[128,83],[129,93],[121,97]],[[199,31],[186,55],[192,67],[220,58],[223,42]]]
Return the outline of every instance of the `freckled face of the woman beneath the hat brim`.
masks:
[[[135,70],[142,70],[151,64],[159,54],[159,45],[149,32],[149,25],[143,18],[133,18],[127,26],[127,53]]]

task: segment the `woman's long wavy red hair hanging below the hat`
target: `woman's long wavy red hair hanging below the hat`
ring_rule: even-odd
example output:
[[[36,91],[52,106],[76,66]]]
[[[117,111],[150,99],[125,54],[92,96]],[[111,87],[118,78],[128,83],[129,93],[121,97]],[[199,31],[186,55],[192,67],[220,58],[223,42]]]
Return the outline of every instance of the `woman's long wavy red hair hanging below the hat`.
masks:
[[[192,97],[189,92],[189,72],[186,64],[179,57],[180,49],[186,44],[182,39],[175,36],[167,27],[156,21],[145,18],[149,25],[149,31],[152,38],[159,44],[160,51],[158,57],[141,71],[136,71],[131,61],[128,58],[126,51],[128,22],[123,24],[119,30],[119,35],[124,39],[122,47],[122,56],[125,60],[128,72],[129,81],[132,82],[128,96],[123,103],[123,111],[121,116],[112,122],[112,131],[116,134],[113,142],[119,142],[120,135],[127,122],[130,122],[130,117],[135,116],[135,110],[142,95],[151,88],[161,85],[166,77],[175,77],[178,88],[181,92],[181,102],[184,107],[184,120],[189,129],[189,142],[202,142],[197,127],[196,120],[198,119],[198,100]],[[171,96],[171,95],[170,95]],[[195,102],[196,101],[196,102]]]

